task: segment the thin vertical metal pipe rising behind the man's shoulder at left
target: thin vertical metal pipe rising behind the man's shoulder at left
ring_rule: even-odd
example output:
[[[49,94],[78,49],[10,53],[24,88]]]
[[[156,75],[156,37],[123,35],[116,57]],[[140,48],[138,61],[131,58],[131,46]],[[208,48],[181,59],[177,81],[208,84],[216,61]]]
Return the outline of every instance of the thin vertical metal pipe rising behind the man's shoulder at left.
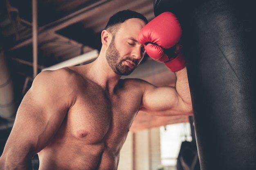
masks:
[[[33,30],[33,77],[37,75],[38,34],[37,34],[37,0],[32,0],[32,30]]]

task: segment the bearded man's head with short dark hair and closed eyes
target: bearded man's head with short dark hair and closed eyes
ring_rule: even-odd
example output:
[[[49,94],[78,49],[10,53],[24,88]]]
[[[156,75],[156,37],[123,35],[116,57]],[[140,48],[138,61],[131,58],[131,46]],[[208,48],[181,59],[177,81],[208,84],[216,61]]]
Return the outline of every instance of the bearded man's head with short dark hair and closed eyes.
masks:
[[[130,74],[144,57],[144,46],[137,37],[147,23],[146,17],[130,10],[119,11],[110,17],[105,27],[105,32],[111,34],[106,59],[116,74]]]

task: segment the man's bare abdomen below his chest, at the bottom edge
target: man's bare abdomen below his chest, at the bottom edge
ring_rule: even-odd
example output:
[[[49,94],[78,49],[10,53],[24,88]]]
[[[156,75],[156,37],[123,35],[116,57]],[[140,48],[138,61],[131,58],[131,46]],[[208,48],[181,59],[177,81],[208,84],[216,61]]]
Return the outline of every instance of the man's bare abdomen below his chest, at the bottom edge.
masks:
[[[40,153],[39,170],[116,170],[119,153],[107,150],[103,143],[79,143],[47,146]]]

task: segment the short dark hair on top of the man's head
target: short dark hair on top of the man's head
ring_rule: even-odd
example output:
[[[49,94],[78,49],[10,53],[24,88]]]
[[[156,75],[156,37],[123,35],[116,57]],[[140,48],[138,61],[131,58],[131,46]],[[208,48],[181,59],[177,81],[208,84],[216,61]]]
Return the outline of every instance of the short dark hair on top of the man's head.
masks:
[[[146,19],[146,17],[144,17],[144,15],[127,9],[124,11],[119,11],[112,15],[104,29],[110,31],[110,33],[112,34],[115,34],[119,25],[131,18],[139,18],[143,20],[146,24],[148,23],[148,20]]]

